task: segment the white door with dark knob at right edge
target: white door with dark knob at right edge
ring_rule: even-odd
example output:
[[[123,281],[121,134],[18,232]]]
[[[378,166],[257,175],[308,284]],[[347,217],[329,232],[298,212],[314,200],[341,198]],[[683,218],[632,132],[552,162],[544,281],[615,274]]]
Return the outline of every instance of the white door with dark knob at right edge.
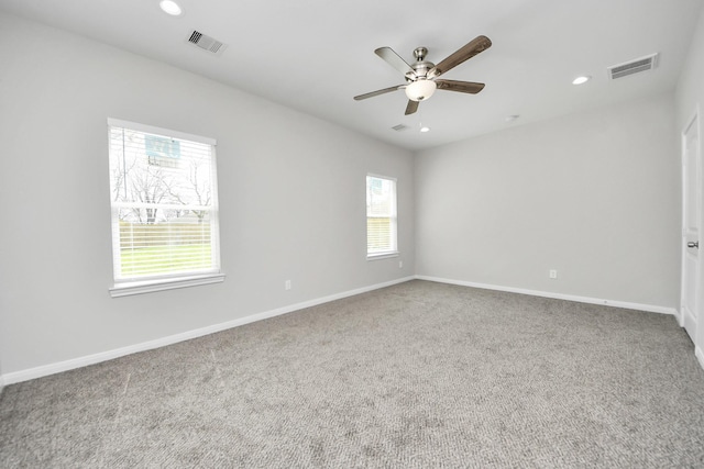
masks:
[[[695,116],[682,136],[683,164],[683,230],[682,230],[682,326],[692,342],[696,340],[700,310],[700,217],[701,217],[701,160],[698,152],[698,115]]]

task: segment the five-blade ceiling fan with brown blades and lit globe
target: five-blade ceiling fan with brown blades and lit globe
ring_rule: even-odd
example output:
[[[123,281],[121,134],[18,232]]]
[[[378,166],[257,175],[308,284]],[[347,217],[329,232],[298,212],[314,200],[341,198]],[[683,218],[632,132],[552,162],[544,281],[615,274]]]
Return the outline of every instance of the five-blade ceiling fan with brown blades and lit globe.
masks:
[[[406,63],[406,60],[404,60],[391,47],[380,47],[374,51],[374,53],[386,60],[392,67],[404,74],[406,77],[406,83],[355,96],[354,100],[361,101],[363,99],[404,89],[408,97],[408,105],[406,107],[406,115],[408,115],[416,112],[420,101],[430,98],[436,89],[476,94],[484,89],[484,83],[475,83],[473,81],[439,80],[438,77],[463,62],[474,57],[479,53],[486,51],[491,46],[492,42],[488,37],[477,36],[463,47],[460,47],[453,54],[450,54],[450,56],[438,65],[426,60],[426,55],[428,54],[428,49],[426,47],[417,47],[414,51],[414,56],[416,57],[416,63],[414,65],[408,65],[408,63]]]

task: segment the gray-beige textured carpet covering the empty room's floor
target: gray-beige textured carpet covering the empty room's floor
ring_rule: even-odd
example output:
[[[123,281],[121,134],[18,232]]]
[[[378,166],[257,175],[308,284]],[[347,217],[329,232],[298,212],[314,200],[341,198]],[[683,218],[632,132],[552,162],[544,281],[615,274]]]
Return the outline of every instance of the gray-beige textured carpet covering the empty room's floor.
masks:
[[[672,316],[411,281],[8,387],[2,467],[704,467]]]

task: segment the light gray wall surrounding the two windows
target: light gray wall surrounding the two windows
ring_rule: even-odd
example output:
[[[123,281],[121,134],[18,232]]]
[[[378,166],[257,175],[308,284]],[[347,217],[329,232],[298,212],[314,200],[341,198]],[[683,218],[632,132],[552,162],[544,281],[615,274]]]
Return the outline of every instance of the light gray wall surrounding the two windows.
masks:
[[[414,273],[410,153],[4,14],[0,56],[2,372]],[[108,116],[218,139],[223,283],[110,298]],[[398,179],[403,269],[366,260],[367,171]]]

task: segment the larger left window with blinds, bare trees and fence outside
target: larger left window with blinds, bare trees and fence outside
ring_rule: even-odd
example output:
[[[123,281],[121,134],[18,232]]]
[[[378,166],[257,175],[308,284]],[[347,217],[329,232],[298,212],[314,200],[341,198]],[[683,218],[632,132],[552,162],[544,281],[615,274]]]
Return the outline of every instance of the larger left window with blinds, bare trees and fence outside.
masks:
[[[216,141],[108,120],[113,297],[222,281]]]

